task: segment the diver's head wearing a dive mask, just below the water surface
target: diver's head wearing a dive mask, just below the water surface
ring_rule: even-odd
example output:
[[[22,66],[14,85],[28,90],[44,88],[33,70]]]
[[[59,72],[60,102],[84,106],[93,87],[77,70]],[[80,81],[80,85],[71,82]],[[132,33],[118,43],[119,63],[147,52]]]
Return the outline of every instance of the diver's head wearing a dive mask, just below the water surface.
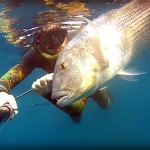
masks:
[[[66,44],[67,31],[61,28],[41,31],[34,40],[34,48],[46,59],[56,59]]]

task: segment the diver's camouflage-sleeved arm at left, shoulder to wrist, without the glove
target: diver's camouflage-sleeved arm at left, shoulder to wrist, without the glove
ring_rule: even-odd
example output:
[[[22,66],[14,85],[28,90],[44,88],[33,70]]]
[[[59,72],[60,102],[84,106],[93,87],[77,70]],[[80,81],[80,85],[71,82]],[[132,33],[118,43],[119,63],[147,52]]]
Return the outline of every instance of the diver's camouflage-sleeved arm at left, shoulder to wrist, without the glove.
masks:
[[[20,63],[16,64],[0,78],[0,91],[9,93],[13,87],[27,77],[36,68],[35,59],[34,50],[26,53]]]

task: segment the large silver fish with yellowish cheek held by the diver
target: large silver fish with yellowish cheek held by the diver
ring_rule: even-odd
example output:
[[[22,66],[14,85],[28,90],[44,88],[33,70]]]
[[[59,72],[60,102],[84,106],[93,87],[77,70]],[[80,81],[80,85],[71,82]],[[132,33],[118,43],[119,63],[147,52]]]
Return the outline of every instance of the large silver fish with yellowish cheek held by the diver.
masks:
[[[99,90],[150,44],[150,0],[133,0],[99,16],[77,34],[56,62],[52,98],[67,106]]]

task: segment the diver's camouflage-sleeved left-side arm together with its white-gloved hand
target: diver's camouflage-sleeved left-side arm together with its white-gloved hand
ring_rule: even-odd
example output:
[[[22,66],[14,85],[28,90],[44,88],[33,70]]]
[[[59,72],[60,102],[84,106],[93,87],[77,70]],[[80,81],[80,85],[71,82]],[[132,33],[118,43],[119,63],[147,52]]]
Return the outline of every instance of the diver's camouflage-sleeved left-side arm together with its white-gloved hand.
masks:
[[[6,119],[13,118],[18,113],[16,100],[13,95],[9,94],[9,91],[35,68],[33,54],[32,51],[28,52],[19,64],[0,78],[0,108],[7,108],[7,114],[5,114],[7,116],[3,117],[3,112],[1,112],[0,121],[4,121],[5,117]]]

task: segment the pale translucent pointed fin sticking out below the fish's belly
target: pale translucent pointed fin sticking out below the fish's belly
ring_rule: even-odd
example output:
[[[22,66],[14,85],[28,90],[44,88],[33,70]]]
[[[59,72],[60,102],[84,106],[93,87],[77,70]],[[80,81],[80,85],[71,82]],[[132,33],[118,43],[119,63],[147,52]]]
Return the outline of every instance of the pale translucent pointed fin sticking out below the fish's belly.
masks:
[[[118,75],[127,81],[137,81],[137,76],[145,74],[146,72],[141,72],[137,68],[128,68],[118,72]]]

